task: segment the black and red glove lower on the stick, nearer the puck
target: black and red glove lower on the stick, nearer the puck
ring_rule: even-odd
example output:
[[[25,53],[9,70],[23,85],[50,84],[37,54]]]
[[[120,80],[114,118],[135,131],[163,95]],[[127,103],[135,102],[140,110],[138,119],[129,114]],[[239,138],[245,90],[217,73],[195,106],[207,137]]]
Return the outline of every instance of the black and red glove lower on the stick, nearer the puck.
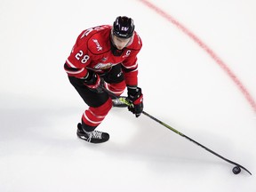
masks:
[[[128,100],[132,103],[128,106],[128,110],[135,114],[136,117],[140,116],[143,111],[143,94],[140,87],[137,88],[127,88],[128,90]]]

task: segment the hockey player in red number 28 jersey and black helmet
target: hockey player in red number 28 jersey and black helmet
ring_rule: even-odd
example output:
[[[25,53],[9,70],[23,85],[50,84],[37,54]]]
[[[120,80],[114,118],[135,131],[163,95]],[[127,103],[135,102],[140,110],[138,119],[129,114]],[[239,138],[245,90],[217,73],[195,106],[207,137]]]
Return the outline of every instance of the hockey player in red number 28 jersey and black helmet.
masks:
[[[127,99],[132,103],[128,109],[140,116],[143,95],[138,87],[137,54],[141,46],[133,20],[126,16],[117,17],[113,26],[85,29],[77,37],[64,68],[69,82],[89,106],[77,124],[79,138],[92,143],[109,139],[107,132],[95,130],[112,108],[108,92],[120,96],[127,88]]]

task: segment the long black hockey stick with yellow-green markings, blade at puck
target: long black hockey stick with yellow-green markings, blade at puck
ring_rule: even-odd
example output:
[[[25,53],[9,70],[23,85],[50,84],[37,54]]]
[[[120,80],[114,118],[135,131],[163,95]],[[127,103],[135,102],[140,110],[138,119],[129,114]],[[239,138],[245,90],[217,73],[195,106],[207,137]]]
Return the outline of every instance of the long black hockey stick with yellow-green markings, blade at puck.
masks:
[[[127,107],[128,106],[131,106],[132,103],[130,103],[128,100],[125,100],[124,98],[122,97],[117,97],[113,92],[109,92],[105,87],[103,87],[103,90],[105,92],[108,92],[109,95],[111,95],[112,97],[116,98],[116,99],[119,99],[121,100],[122,102],[124,102]],[[156,121],[157,123],[159,124],[162,124],[164,125],[164,127],[168,128],[169,130],[171,130],[172,132],[175,132],[177,134],[179,134],[181,137],[187,139],[187,140],[190,140],[192,141],[193,143],[195,143],[196,145],[200,146],[201,148],[204,148],[205,150],[207,150],[208,152],[212,153],[213,155],[215,156],[218,156],[220,157],[221,159],[223,159],[224,161],[228,162],[229,164],[234,164],[236,165],[236,167],[233,168],[233,172],[235,174],[241,172],[240,168],[244,169],[244,171],[248,172],[249,174],[252,175],[251,172],[249,172],[244,166],[242,166],[241,164],[237,164],[236,162],[233,162],[231,160],[229,160],[228,158],[225,158],[224,156],[220,156],[218,153],[212,151],[212,149],[210,148],[206,148],[204,145],[200,144],[199,142],[197,142],[196,140],[192,140],[191,138],[189,138],[187,135],[183,134],[182,132],[179,132],[178,130],[174,129],[172,126],[168,125],[168,124],[165,124],[164,122],[160,121],[159,119],[157,119],[155,116],[151,116],[149,115],[147,112],[145,111],[142,111],[142,114],[144,114],[145,116],[148,116],[149,118],[153,119],[154,121]]]

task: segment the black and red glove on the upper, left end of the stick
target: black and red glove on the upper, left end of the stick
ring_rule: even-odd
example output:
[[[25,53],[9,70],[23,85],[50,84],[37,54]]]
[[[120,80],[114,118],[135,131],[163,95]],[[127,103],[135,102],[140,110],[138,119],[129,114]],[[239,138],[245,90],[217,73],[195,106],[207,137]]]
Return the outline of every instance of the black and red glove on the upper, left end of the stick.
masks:
[[[88,70],[84,76],[84,84],[89,87],[93,92],[103,92],[100,87],[100,76],[91,70]]]

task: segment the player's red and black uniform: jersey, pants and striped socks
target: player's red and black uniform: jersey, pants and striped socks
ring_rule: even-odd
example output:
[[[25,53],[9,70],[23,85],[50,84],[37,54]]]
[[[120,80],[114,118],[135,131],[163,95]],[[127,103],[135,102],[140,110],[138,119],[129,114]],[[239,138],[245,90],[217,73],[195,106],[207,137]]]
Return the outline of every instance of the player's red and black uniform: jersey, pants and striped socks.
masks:
[[[84,30],[77,37],[64,65],[70,83],[89,106],[82,116],[82,125],[88,132],[93,131],[112,108],[112,100],[107,92],[93,92],[84,84],[88,71],[99,74],[106,88],[117,96],[124,92],[126,86],[137,87],[138,84],[137,54],[142,46],[140,36],[134,31],[122,54],[115,56],[111,52],[111,28],[103,25]]]

